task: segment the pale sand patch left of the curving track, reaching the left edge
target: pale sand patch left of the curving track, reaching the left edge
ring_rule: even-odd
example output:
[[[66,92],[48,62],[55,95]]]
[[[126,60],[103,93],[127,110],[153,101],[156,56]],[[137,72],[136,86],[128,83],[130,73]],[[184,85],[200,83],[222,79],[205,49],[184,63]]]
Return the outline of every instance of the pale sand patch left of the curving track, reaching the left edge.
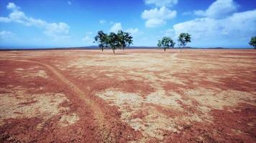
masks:
[[[14,87],[7,90],[6,93],[0,94],[0,125],[5,124],[4,119],[31,117],[43,119],[42,124],[44,124],[44,122],[60,114],[60,112],[69,110],[68,107],[60,107],[60,104],[63,102],[69,102],[65,94],[29,94],[22,87]],[[60,122],[62,124],[73,124],[73,122],[78,120],[76,116],[63,117],[63,120],[60,120]],[[67,122],[63,122],[64,120],[67,120]]]

